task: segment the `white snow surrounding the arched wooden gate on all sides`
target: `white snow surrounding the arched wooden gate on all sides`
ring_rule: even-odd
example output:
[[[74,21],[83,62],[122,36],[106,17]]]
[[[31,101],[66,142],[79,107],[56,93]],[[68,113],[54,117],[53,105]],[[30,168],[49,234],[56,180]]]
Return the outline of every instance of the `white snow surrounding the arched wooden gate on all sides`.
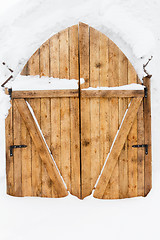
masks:
[[[140,78],[144,75],[143,64],[153,55],[147,66],[153,75],[153,189],[146,198],[106,201],[88,197],[81,201],[73,196],[64,199],[7,196],[4,115],[8,106],[0,89],[0,239],[159,239],[160,1],[1,0],[0,3],[0,83],[10,76],[2,62],[16,76],[46,39],[79,21],[113,39]]]

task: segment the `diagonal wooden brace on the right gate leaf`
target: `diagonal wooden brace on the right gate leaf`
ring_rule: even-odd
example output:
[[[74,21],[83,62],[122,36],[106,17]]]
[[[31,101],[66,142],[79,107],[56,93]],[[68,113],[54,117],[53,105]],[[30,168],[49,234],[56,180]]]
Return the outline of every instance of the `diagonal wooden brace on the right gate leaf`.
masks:
[[[118,161],[118,157],[122,151],[127,135],[132,127],[136,114],[138,112],[140,103],[143,98],[133,98],[130,107],[126,113],[126,116],[121,124],[116,140],[110,150],[107,162],[103,167],[102,174],[97,183],[93,196],[95,198],[103,198],[105,189],[111,178],[112,172]]]

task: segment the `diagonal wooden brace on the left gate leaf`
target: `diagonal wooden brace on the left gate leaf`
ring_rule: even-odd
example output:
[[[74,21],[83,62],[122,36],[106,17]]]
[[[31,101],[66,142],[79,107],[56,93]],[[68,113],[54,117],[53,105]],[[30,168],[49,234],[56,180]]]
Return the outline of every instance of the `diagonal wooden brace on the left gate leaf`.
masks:
[[[50,152],[45,144],[45,141],[40,133],[40,130],[35,123],[35,120],[27,106],[24,99],[14,100],[18,110],[26,124],[26,127],[31,135],[31,138],[37,148],[37,151],[42,159],[43,164],[46,167],[49,177],[53,182],[55,191],[58,197],[65,197],[68,195],[67,189],[63,183],[63,180],[57,170],[57,167],[50,155]]]

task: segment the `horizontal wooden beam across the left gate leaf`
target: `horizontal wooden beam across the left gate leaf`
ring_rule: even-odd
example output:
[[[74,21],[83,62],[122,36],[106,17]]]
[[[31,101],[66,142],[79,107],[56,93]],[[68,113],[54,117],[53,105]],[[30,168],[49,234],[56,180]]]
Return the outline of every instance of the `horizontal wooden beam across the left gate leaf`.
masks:
[[[78,97],[78,89],[12,91],[12,98]]]

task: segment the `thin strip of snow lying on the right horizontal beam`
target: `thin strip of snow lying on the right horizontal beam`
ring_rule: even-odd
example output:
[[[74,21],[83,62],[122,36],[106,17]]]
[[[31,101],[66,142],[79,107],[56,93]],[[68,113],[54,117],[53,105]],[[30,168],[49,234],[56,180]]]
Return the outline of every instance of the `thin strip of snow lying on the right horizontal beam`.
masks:
[[[97,88],[93,88],[93,87],[89,87],[89,88],[84,88],[82,90],[117,90],[117,91],[121,91],[121,90],[144,90],[145,86],[141,85],[141,84],[136,84],[136,83],[132,83],[132,84],[128,84],[128,85],[123,85],[123,86],[119,86],[119,87],[97,87]]]

